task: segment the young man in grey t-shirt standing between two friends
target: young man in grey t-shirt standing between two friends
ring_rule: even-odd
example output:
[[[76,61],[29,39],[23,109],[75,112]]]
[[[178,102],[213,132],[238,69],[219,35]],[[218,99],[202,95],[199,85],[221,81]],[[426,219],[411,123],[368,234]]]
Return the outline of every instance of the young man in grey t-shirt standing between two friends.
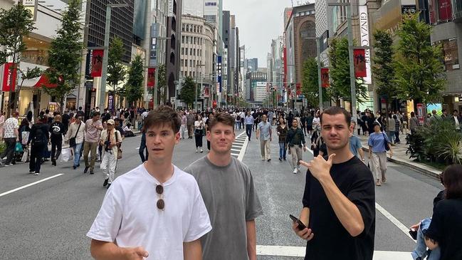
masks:
[[[263,210],[251,171],[231,157],[234,119],[219,113],[209,123],[211,151],[189,165],[201,190],[212,230],[201,238],[204,260],[256,260],[256,217]]]

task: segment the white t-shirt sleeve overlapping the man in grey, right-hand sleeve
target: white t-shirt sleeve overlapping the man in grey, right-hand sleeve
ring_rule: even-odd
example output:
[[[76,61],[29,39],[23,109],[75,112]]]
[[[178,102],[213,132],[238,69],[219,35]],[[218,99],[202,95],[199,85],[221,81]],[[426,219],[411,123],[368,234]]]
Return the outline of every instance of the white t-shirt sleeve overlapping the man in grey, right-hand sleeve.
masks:
[[[202,199],[199,186],[194,180],[194,202],[192,205],[191,219],[189,220],[189,227],[184,242],[191,242],[200,239],[201,236],[211,231],[209,213]]]

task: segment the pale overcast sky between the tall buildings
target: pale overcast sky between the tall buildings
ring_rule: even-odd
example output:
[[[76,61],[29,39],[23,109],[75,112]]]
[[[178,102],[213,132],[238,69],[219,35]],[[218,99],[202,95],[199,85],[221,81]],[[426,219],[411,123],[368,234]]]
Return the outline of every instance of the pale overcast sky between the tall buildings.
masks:
[[[297,1],[300,0],[293,0],[294,6]],[[271,39],[283,35],[284,8],[290,6],[290,0],[223,0],[223,10],[236,15],[246,58],[258,58],[258,67],[266,68]]]

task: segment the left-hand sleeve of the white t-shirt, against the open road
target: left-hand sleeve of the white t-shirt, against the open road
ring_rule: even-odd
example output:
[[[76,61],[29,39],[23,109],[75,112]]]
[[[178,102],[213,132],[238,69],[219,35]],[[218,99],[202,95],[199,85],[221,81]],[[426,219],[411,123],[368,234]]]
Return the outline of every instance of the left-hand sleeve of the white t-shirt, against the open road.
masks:
[[[103,199],[100,212],[87,236],[99,241],[113,242],[122,222],[122,199],[120,186],[114,182]]]

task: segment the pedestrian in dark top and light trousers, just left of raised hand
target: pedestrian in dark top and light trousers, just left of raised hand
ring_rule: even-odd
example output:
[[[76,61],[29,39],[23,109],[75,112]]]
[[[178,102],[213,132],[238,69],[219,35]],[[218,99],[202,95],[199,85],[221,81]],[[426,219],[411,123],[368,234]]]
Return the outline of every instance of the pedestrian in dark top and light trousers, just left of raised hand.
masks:
[[[295,118],[292,121],[292,128],[288,130],[286,142],[290,149],[290,155],[292,155],[293,174],[297,174],[300,171],[300,161],[303,160],[302,150],[306,152],[306,146],[305,135],[303,130],[298,127],[298,120]]]

